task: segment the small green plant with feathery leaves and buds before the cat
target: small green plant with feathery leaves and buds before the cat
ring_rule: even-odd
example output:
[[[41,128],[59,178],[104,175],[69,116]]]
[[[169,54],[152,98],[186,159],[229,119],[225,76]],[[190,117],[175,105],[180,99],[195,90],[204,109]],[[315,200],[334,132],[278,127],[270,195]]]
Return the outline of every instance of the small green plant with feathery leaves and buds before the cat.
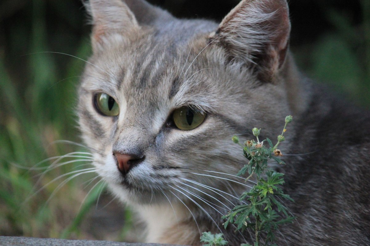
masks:
[[[281,199],[293,201],[279,187],[284,184],[284,174],[268,167],[270,159],[275,160],[280,165],[285,164],[279,158],[282,156],[282,153],[277,147],[285,140],[284,133],[287,124],[290,122],[292,122],[292,116],[287,116],[284,129],[282,134],[277,137],[275,146],[270,139],[259,141],[260,129],[257,128],[252,129],[256,141],[248,140],[244,144],[240,144],[237,136],[232,138],[235,143],[243,147],[243,154],[249,160],[248,164],[245,164],[237,175],[245,175],[248,172],[249,176],[246,180],[255,175],[256,183],[250,191],[243,192],[240,196],[240,201],[245,201],[245,204],[236,206],[222,218],[226,219],[224,223],[225,229],[229,224],[233,223],[236,226],[236,230],[253,230],[255,232],[254,246],[276,245],[273,243],[275,240],[274,231],[278,229],[279,225],[292,222],[294,219],[294,217],[288,215],[287,208],[281,202]],[[268,147],[265,147],[265,143],[268,144]],[[216,235],[218,240],[222,240],[221,234]],[[208,246],[216,245],[212,244],[212,237],[209,234],[205,236],[205,233],[203,233],[201,239],[203,240],[201,242],[207,242]],[[242,244],[242,246],[252,245],[246,243]]]

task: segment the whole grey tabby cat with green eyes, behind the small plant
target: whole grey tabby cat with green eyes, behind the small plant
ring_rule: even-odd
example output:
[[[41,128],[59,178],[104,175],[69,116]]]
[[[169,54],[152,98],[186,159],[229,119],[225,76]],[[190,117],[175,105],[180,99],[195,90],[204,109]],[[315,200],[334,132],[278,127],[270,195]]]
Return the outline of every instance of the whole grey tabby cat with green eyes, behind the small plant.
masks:
[[[273,167],[297,217],[277,244],[370,245],[370,115],[298,72],[286,0],[242,0],[219,25],[142,0],[88,6],[79,123],[97,173],[147,222],[146,242],[200,245],[203,231],[252,242],[222,226],[249,185],[233,176],[246,159],[231,136],[260,127],[275,139],[291,114],[282,151],[305,155]]]

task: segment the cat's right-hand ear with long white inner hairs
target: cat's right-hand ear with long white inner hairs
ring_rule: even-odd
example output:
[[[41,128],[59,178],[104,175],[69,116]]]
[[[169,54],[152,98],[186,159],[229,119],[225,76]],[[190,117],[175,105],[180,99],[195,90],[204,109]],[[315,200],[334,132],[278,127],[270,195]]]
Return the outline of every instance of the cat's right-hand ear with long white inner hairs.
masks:
[[[290,21],[286,0],[242,0],[223,19],[215,42],[229,59],[255,64],[263,81],[272,81],[285,61]]]

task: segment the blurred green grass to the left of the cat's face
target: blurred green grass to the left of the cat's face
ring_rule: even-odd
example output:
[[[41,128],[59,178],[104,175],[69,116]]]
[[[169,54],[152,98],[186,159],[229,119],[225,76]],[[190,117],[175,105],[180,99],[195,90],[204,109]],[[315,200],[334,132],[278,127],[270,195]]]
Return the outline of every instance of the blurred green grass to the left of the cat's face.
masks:
[[[73,105],[84,62],[71,57],[64,58],[66,63],[60,71],[58,56],[62,54],[45,53],[53,50],[47,42],[45,3],[33,1],[31,6],[30,32],[16,33],[15,30],[16,34],[10,37],[15,39],[11,40],[15,44],[18,39],[20,43],[25,39],[28,41],[25,55],[19,56],[17,52],[12,54],[18,55],[14,60],[26,64],[26,71],[20,72],[27,74],[24,76],[27,81],[13,81],[12,77],[17,76],[7,72],[4,52],[0,53],[3,105],[0,117],[0,235],[78,238],[78,225],[95,204],[101,187],[94,187],[89,194],[81,193],[83,182],[72,179],[50,199],[58,184],[66,178],[51,181],[67,172],[82,170],[84,166],[80,165],[86,162],[74,161],[72,165],[63,165],[46,172],[40,180],[43,171],[29,168],[50,157],[85,151],[73,145],[54,144],[60,139],[80,141],[76,137]],[[79,40],[75,47],[76,57],[88,58],[90,44],[87,38]],[[38,167],[47,167],[50,163],[45,162]],[[87,175],[83,181],[95,176]],[[37,192],[39,189],[41,191]],[[71,202],[76,205],[71,206]]]

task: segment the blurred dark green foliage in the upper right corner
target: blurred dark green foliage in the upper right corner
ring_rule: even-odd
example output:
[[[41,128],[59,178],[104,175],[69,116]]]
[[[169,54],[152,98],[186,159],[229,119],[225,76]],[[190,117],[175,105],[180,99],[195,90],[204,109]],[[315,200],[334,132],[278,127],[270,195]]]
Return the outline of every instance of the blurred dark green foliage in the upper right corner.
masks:
[[[370,105],[370,1],[361,0],[362,21],[353,25],[345,13],[326,10],[334,27],[313,43],[293,47],[301,69],[343,98],[365,108]]]

